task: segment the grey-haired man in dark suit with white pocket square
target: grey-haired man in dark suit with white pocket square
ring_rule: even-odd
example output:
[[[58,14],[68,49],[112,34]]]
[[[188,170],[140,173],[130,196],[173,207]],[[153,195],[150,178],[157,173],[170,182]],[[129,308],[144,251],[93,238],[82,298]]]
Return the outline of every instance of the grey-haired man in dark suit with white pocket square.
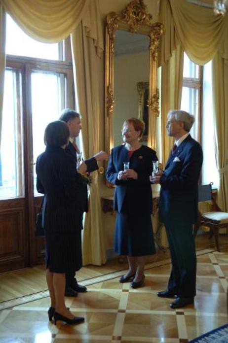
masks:
[[[200,144],[189,134],[194,117],[181,110],[168,113],[168,136],[175,138],[164,171],[151,177],[160,183],[159,218],[164,223],[172,260],[167,290],[158,297],[176,299],[173,309],[193,304],[196,280],[196,256],[192,225],[197,220],[198,179],[203,162]]]

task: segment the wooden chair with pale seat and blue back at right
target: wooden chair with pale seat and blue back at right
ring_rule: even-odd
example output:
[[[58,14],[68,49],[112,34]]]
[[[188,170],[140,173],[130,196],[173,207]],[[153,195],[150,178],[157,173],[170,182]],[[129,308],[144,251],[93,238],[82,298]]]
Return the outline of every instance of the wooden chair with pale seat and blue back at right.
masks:
[[[215,194],[212,192],[211,182],[209,185],[198,186],[198,202],[212,201],[212,212],[198,213],[198,221],[194,225],[194,237],[197,234],[200,226],[207,226],[210,228],[209,239],[214,235],[215,244],[218,251],[219,247],[219,229],[228,227],[228,213],[223,212],[221,208],[216,204]]]

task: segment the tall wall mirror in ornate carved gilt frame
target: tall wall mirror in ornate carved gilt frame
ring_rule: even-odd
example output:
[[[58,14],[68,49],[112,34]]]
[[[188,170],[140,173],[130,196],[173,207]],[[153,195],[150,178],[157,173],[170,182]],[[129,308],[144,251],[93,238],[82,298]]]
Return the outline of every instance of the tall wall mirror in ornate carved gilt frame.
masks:
[[[122,143],[123,121],[145,121],[143,143],[156,148],[155,124],[159,114],[157,49],[163,25],[152,24],[143,0],[131,1],[106,22],[106,149]]]

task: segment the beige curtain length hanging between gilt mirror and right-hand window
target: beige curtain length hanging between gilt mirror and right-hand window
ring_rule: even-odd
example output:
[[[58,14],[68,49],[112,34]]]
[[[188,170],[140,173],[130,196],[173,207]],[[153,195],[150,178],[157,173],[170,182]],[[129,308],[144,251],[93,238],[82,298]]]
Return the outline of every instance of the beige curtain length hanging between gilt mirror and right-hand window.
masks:
[[[169,1],[161,2],[159,21],[165,26],[158,55],[158,65],[161,65],[161,163],[164,167],[173,146],[173,138],[166,133],[167,113],[181,106],[184,50],[177,38]]]

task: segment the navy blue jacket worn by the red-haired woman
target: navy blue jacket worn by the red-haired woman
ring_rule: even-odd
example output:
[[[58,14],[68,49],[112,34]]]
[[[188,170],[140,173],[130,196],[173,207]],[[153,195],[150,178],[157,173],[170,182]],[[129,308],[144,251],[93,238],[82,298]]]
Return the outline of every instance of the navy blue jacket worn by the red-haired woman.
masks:
[[[106,177],[116,185],[114,209],[127,213],[152,213],[152,189],[149,176],[152,174],[152,161],[157,161],[154,150],[142,145],[129,158],[125,145],[118,145],[112,150]],[[129,162],[129,169],[138,173],[138,179],[118,180],[123,162]]]

